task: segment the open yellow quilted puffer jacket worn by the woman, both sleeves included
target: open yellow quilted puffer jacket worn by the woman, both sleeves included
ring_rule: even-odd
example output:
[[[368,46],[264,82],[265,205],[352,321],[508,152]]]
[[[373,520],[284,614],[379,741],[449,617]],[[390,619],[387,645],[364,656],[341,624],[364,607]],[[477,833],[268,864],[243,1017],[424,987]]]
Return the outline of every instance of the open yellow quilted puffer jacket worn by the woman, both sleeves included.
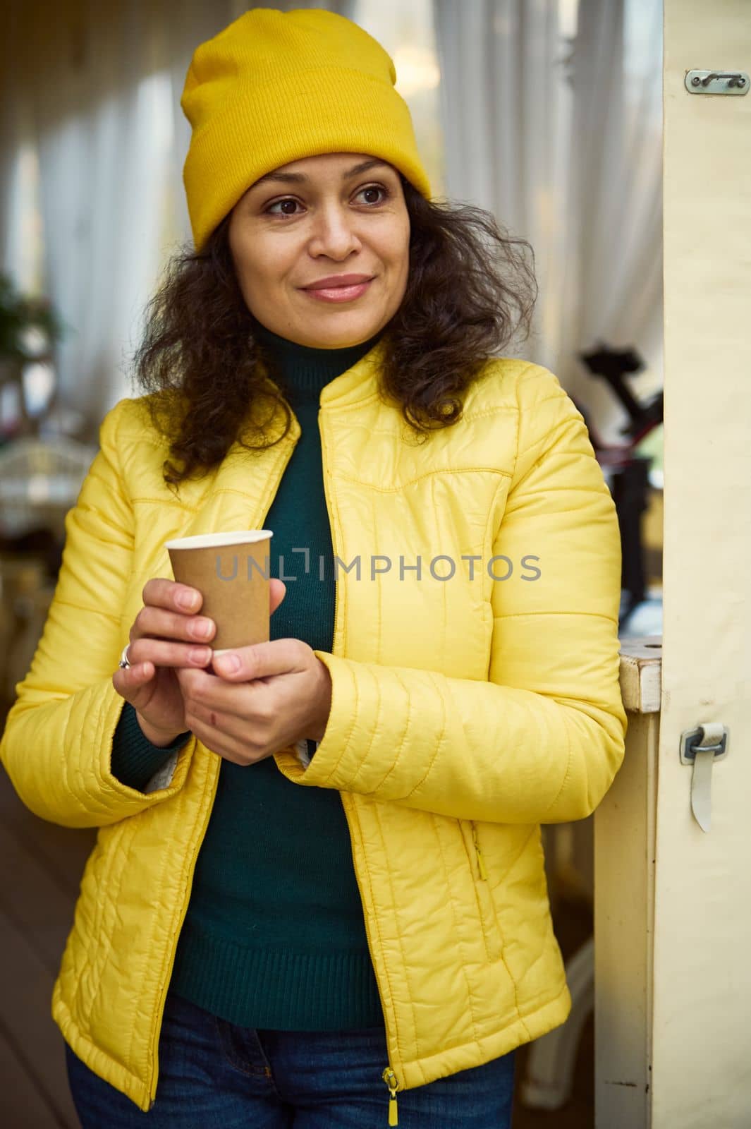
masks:
[[[539,825],[592,812],[620,764],[626,716],[615,507],[556,377],[488,360],[461,421],[417,443],[379,396],[380,358],[377,345],[321,393],[334,552],[347,566],[360,557],[361,575],[338,570],[333,654],[317,651],[333,681],[324,738],[308,769],[292,749],[276,763],[303,787],[341,791],[383,1067],[404,1089],[566,1018]],[[262,527],[299,435],[293,420],[260,454],[236,444],[177,500],[143,400],[107,413],[0,746],[33,812],[99,828],[53,1016],[142,1110],[220,762],[191,737],[147,794],[121,784],[112,673],[143,585],[173,576],[165,541]]]

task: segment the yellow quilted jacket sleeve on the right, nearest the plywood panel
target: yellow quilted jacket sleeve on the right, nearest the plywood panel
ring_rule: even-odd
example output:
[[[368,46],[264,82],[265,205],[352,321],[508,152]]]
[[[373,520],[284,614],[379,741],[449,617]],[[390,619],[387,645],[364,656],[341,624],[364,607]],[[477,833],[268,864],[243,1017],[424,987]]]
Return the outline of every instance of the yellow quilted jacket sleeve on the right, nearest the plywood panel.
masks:
[[[487,681],[316,651],[332,675],[332,710],[307,769],[277,754],[290,779],[498,823],[583,819],[610,786],[627,724],[616,509],[556,377],[533,366],[518,397],[493,553],[534,553],[540,577],[492,585]]]

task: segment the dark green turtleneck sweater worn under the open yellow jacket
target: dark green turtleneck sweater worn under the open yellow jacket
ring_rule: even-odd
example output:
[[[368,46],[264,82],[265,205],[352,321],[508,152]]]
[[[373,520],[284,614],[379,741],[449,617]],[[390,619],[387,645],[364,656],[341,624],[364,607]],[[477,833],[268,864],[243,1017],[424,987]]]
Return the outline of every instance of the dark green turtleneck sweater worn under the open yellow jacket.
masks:
[[[294,637],[330,650],[335,581],[319,395],[377,339],[330,350],[266,330],[258,338],[302,432],[264,520],[274,532],[271,575],[298,577],[285,581],[271,638]],[[303,548],[310,551],[307,575],[303,554],[292,552]],[[113,742],[113,772],[142,789],[184,741],[182,735],[169,747],[152,745],[126,704]],[[383,1023],[338,791],[300,788],[273,758],[245,768],[222,760],[170,987],[241,1026],[325,1031]]]

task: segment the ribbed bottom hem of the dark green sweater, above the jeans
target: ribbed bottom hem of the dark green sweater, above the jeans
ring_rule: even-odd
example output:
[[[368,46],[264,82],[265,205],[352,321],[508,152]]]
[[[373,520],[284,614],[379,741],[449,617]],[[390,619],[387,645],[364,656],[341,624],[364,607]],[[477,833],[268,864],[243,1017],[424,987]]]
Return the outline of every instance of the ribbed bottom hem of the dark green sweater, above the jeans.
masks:
[[[241,1027],[354,1031],[383,1026],[369,952],[247,948],[186,921],[170,990]]]

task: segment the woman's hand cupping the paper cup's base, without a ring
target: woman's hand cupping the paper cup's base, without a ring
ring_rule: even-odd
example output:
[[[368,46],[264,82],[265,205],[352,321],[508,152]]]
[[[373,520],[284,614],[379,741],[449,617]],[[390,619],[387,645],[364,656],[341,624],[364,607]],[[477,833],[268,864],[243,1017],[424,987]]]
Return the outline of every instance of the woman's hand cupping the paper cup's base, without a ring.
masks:
[[[237,656],[235,671],[226,669]],[[302,737],[320,741],[332,709],[332,680],[300,639],[237,647],[213,668],[176,672],[191,730],[212,752],[253,764]]]

